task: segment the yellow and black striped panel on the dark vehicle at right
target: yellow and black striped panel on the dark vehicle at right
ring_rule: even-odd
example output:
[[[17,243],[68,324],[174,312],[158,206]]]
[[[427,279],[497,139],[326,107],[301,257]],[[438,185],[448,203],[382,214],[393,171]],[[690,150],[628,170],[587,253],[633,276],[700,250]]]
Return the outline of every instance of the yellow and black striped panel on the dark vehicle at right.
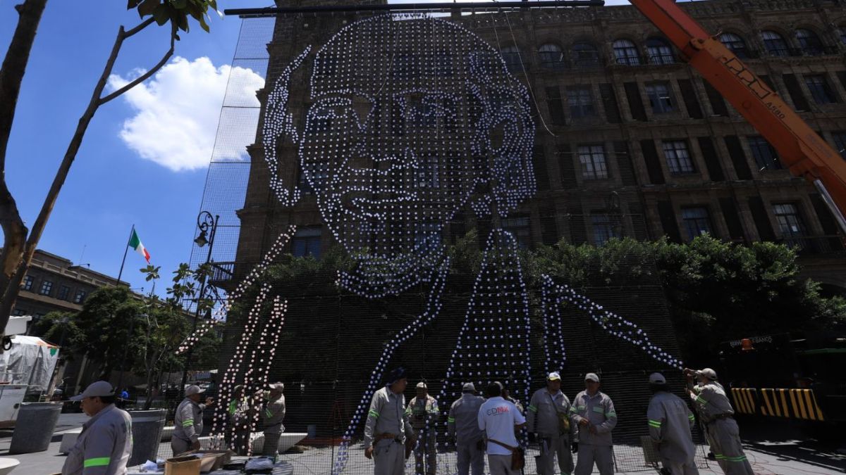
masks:
[[[814,390],[799,388],[732,388],[734,410],[772,418],[824,421]]]

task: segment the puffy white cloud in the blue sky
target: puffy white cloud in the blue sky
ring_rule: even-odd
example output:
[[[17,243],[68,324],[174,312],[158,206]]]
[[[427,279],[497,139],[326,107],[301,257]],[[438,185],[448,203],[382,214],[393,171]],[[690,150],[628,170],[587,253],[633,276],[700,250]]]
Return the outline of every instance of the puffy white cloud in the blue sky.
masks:
[[[113,74],[108,85],[116,90],[138,74],[133,71],[127,78]],[[259,105],[255,90],[264,85],[264,79],[251,69],[228,64],[215,68],[207,57],[194,61],[175,57],[151,79],[122,96],[135,115],[124,121],[120,138],[141,158],[173,172],[207,167],[227,84],[228,104]],[[216,160],[243,160],[244,147],[255,138],[255,125],[243,131],[228,130],[227,141],[233,138],[243,138],[243,144],[218,148]]]

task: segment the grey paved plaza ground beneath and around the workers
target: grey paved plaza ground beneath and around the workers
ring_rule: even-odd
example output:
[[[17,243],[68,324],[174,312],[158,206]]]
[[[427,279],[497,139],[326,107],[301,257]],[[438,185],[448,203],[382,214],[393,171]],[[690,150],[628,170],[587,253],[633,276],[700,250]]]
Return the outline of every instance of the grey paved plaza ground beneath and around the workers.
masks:
[[[47,451],[35,454],[15,455],[21,463],[14,475],[47,475],[58,473],[62,469],[64,456],[58,453],[62,432],[80,427],[85,422],[85,415],[62,414],[52,443]],[[846,455],[837,453],[834,445],[825,445],[816,440],[806,439],[798,430],[785,428],[776,424],[742,424],[741,433],[744,435],[746,455],[752,462],[755,473],[759,475],[823,475],[846,472]],[[12,440],[12,432],[0,430],[0,457],[8,456],[8,447]],[[334,460],[332,447],[306,448],[301,453],[288,453],[282,456],[287,461],[294,475],[329,475]],[[334,450],[337,450],[335,448]],[[618,454],[617,473],[656,473],[654,469],[643,463],[642,454],[636,447],[619,445],[615,448]],[[703,450],[704,452],[705,450]],[[168,444],[162,444],[160,454],[170,453]],[[532,456],[535,450],[528,454],[529,470],[534,473]],[[438,473],[455,473],[453,454],[441,454],[438,457]],[[413,459],[412,459],[413,461]],[[699,459],[702,475],[722,473],[714,461]],[[413,464],[409,464],[406,473],[413,473]],[[352,475],[369,475],[372,473],[372,462],[364,457],[363,450],[354,446],[350,450],[349,461],[344,473]]]

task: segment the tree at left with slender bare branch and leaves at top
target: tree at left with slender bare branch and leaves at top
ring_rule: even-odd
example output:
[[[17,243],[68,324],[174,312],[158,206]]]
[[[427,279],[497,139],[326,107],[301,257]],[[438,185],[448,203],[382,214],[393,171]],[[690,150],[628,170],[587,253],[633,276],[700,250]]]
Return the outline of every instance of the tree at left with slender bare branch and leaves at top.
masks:
[[[127,90],[140,85],[168,63],[168,59],[173,56],[175,41],[179,40],[179,31],[189,30],[190,18],[195,19],[203,30],[208,31],[209,27],[206,24],[208,10],[209,8],[217,10],[217,0],[129,0],[127,8],[135,9],[142,21],[129,30],[124,29],[124,26],[118,28],[112,52],[106,60],[100,79],[97,80],[91,94],[91,101],[80,117],[68,149],[59,164],[56,177],[53,178],[47,197],[41,205],[41,211],[32,229],[28,230],[20,216],[14,196],[8,189],[4,171],[8,138],[11,134],[20,84],[46,3],[47,0],[26,0],[17,7],[20,15],[18,27],[3,60],[3,67],[0,68],[0,227],[3,227],[4,238],[3,249],[0,250],[0,328],[5,328],[8,323],[8,315],[11,314],[14,301],[20,291],[20,282],[30,265],[32,255],[36,252],[41,233],[47,226],[47,220],[50,218],[53,206],[56,205],[58,194],[68,177],[70,167],[74,163],[82,145],[82,139],[97,109]],[[164,52],[158,63],[147,69],[144,74],[120,89],[104,95],[107,79],[112,74],[114,63],[124,46],[124,41],[153,24],[169,26],[170,47],[168,50]]]

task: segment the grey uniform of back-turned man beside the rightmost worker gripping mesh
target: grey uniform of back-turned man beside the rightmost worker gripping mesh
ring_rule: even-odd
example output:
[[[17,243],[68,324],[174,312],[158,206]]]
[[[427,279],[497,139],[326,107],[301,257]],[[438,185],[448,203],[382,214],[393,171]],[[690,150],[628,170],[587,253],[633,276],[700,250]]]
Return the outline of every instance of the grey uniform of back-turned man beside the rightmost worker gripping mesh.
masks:
[[[696,418],[687,403],[667,391],[658,391],[649,401],[646,419],[663,466],[672,475],[698,475],[694,463],[696,446],[690,435]]]

